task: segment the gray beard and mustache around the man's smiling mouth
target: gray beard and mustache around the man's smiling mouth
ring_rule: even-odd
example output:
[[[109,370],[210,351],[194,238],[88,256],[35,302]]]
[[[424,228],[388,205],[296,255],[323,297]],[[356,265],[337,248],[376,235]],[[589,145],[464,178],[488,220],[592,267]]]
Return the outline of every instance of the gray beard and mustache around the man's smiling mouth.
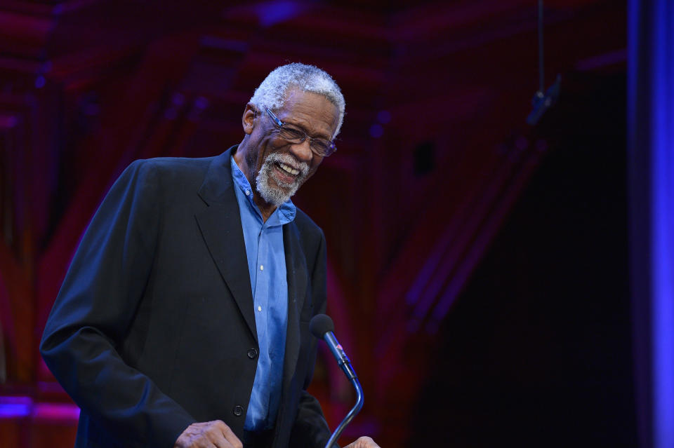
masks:
[[[289,154],[279,154],[272,153],[265,158],[265,161],[258,172],[258,177],[255,178],[256,189],[260,196],[265,200],[265,202],[274,204],[277,207],[288,201],[293,194],[297,192],[297,189],[304,183],[309,172],[309,165],[306,163],[300,163],[298,170],[300,173],[295,178],[295,182],[291,184],[283,182],[281,179],[277,179],[274,176],[274,168],[277,163],[285,163],[286,165],[295,167],[297,161],[290,156]],[[277,188],[276,186],[271,186],[269,178],[274,176],[274,182],[282,187]]]

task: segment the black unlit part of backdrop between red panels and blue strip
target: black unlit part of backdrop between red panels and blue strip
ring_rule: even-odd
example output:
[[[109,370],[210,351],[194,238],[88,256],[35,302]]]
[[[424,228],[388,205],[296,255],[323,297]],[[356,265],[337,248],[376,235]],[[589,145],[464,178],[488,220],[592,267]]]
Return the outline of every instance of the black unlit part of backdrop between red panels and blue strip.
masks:
[[[408,446],[635,447],[626,77],[569,74],[550,154],[440,330]]]

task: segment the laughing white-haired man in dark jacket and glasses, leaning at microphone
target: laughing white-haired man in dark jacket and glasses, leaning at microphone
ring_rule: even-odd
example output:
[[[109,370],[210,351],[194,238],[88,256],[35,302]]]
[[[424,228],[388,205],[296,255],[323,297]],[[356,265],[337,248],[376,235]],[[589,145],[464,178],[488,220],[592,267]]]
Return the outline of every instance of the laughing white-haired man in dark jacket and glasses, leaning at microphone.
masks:
[[[344,104],[317,67],[279,67],[238,146],[136,161],[115,182],[40,347],[81,407],[77,447],[324,447],[305,389],[325,240],[290,197],[334,151]]]

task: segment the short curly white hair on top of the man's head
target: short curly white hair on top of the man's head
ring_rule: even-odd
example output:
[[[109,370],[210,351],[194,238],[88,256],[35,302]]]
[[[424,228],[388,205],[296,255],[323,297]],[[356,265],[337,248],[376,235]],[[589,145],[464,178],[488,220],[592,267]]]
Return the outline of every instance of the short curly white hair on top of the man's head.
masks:
[[[286,93],[290,88],[297,88],[303,92],[317,93],[326,97],[339,110],[339,121],[333,138],[339,133],[344,121],[346,102],[339,86],[332,77],[314,65],[292,64],[282,65],[272,70],[260,86],[256,88],[251,103],[264,111],[268,107],[271,111],[281,109],[286,101]]]

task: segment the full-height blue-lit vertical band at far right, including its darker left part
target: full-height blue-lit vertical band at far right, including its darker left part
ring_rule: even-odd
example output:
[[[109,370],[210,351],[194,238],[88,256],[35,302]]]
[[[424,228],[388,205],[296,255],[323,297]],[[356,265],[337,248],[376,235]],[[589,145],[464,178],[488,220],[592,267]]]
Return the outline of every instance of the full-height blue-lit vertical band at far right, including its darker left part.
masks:
[[[630,174],[641,444],[674,447],[674,4],[629,2]]]

